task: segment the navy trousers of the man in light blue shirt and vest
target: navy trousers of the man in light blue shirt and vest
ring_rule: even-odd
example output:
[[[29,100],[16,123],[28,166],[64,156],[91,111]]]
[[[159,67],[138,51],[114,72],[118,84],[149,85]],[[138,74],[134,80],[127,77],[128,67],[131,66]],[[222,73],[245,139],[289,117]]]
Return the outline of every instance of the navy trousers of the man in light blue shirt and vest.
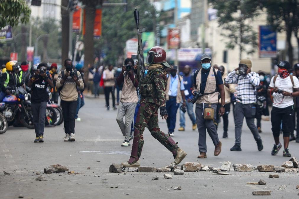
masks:
[[[176,112],[178,111],[179,104],[176,103],[176,98],[169,98],[166,101],[166,110],[168,118],[166,119],[168,132],[172,133],[176,127]]]

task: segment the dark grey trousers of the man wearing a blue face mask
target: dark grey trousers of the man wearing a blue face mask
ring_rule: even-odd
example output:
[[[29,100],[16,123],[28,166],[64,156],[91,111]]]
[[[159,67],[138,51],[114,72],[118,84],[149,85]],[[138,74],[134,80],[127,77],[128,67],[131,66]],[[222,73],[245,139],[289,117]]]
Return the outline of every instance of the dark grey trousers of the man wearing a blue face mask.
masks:
[[[204,107],[203,107],[204,106]],[[196,115],[196,124],[199,133],[198,137],[198,150],[199,152],[207,152],[207,132],[210,135],[213,144],[216,146],[219,143],[218,133],[216,126],[213,120],[205,120],[203,115],[203,109],[207,108],[209,104],[196,104],[195,106],[195,115]],[[211,107],[214,109],[214,120],[216,120],[216,109],[217,104],[212,104]]]

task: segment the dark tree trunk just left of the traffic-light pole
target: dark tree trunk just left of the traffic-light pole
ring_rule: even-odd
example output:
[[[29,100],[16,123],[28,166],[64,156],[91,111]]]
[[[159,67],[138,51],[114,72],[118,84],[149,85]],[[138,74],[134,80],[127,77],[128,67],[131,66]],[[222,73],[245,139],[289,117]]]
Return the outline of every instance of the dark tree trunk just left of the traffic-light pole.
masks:
[[[68,0],[61,0],[61,5],[68,7]],[[64,68],[64,60],[68,58],[68,37],[69,37],[69,12],[61,8],[61,65]]]

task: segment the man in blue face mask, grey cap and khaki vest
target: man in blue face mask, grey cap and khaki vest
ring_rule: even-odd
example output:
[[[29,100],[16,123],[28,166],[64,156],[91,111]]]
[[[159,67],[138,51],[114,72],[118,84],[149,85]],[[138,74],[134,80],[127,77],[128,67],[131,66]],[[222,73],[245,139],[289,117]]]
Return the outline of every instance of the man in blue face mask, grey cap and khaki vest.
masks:
[[[211,67],[211,56],[206,54],[202,55],[201,63],[202,68],[197,70],[194,74],[192,94],[194,95],[196,91],[202,94],[202,97],[199,97],[196,101],[195,108],[196,124],[199,132],[198,149],[200,152],[197,158],[207,158],[206,130],[215,145],[214,155],[217,156],[221,152],[222,143],[219,141],[214,122],[216,120],[216,114],[220,116],[224,114],[225,93],[220,71]],[[221,107],[217,113],[219,94],[221,97]],[[213,119],[205,119],[204,109],[206,108],[214,109]]]

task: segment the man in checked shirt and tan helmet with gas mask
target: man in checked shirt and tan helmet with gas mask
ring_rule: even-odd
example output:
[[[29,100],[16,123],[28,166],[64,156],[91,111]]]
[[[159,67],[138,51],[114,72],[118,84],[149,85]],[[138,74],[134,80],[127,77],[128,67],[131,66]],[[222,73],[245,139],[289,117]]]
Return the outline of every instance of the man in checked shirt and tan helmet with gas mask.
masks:
[[[256,72],[251,71],[251,60],[241,59],[239,67],[230,72],[225,79],[228,84],[238,84],[237,99],[235,105],[235,144],[231,151],[242,151],[241,134],[244,117],[248,128],[250,129],[255,141],[257,149],[263,150],[262,139],[254,124],[256,114],[256,87],[260,85],[260,77]]]

